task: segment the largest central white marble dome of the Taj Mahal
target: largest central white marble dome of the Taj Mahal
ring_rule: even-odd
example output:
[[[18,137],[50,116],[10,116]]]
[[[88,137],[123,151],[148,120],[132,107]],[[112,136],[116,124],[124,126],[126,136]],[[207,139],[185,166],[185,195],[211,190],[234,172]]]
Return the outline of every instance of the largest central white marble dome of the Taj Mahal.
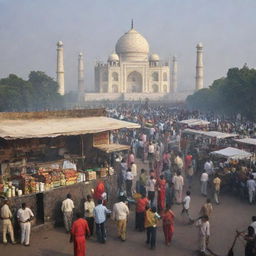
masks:
[[[123,60],[147,60],[149,44],[135,29],[130,29],[116,43],[116,53]]]

